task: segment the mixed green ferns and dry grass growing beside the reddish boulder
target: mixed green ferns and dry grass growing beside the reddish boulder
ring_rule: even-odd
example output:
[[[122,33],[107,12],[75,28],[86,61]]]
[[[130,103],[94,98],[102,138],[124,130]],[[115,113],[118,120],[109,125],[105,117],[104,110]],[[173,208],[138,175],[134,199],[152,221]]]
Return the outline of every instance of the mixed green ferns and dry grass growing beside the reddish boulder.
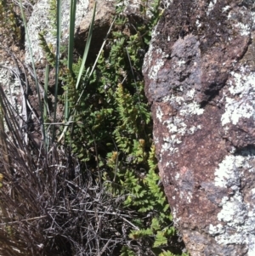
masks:
[[[53,1],[50,3],[54,6]],[[57,1],[58,14],[59,8]],[[43,31],[40,33],[48,66],[59,74],[55,82],[61,82],[65,90],[65,94],[58,95],[56,86],[55,91],[55,100],[65,105],[65,126],[55,132],[57,104],[52,120],[47,116],[45,97],[42,121],[52,122],[53,129],[48,140],[43,130],[49,127],[42,125],[42,148],[37,145],[35,149],[33,139],[27,145],[17,139],[17,145],[12,145],[9,141],[19,137],[20,132],[9,137],[0,128],[2,145],[10,138],[8,146],[1,147],[2,155],[6,156],[6,151],[17,155],[3,171],[3,188],[14,188],[14,196],[1,190],[2,210],[8,208],[5,213],[3,210],[3,229],[0,227],[5,255],[14,247],[20,253],[15,250],[13,255],[186,255],[176,242],[172,214],[158,175],[150,105],[144,96],[141,71],[150,32],[160,18],[160,1],[155,0],[150,7],[149,18],[147,1],[142,0],[143,19],[134,24],[123,14],[124,8],[123,0],[116,1],[116,20],[105,38],[108,49],[100,51],[93,66],[88,63],[88,53],[94,20],[83,58],[74,63],[71,56],[74,2],[66,60],[59,60],[60,45],[53,53]],[[53,10],[50,15],[54,17]],[[52,21],[59,38],[60,20]],[[131,28],[128,33],[127,27]],[[48,74],[48,67],[46,70]],[[45,81],[47,84],[47,76]],[[47,93],[46,86],[44,96]],[[9,130],[20,131],[7,101],[3,100],[1,106],[0,121],[11,120]],[[26,156],[31,149],[34,155]],[[17,165],[18,187],[12,169]],[[8,207],[10,202],[12,209]],[[19,214],[11,217],[11,211]],[[24,234],[32,235],[25,238]]]

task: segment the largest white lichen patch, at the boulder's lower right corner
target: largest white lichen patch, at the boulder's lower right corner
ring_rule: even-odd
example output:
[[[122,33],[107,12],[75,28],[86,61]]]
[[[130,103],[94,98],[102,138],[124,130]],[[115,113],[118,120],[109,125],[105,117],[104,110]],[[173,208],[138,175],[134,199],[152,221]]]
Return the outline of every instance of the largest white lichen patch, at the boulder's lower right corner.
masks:
[[[250,162],[255,156],[226,156],[215,172],[215,185],[231,189],[231,194],[224,196],[219,204],[221,211],[218,221],[221,224],[210,225],[209,233],[215,236],[219,244],[246,244],[249,256],[255,255],[255,208],[244,200],[241,179],[252,168]],[[250,191],[253,195],[254,189]]]

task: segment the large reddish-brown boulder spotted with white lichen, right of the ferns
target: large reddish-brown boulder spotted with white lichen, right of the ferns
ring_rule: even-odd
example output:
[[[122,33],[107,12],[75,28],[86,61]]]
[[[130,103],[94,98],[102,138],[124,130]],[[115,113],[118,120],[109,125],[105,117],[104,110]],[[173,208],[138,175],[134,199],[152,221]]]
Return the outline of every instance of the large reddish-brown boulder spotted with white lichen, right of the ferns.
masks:
[[[144,60],[161,180],[190,255],[255,255],[255,4],[173,0]]]

